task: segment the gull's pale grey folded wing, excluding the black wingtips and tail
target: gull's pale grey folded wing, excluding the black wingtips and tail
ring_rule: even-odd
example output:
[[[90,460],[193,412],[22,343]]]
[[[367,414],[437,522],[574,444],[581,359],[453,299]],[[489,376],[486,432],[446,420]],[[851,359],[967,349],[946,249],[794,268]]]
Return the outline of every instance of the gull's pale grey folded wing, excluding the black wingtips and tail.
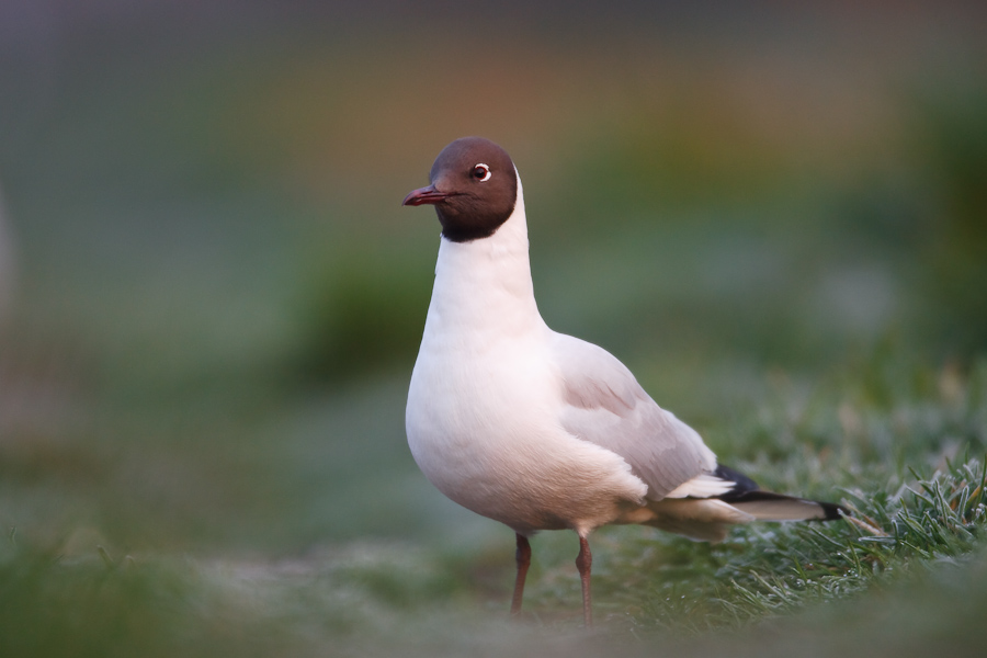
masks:
[[[561,333],[552,347],[564,382],[563,427],[621,455],[648,485],[649,499],[716,468],[695,430],[655,404],[610,352]]]

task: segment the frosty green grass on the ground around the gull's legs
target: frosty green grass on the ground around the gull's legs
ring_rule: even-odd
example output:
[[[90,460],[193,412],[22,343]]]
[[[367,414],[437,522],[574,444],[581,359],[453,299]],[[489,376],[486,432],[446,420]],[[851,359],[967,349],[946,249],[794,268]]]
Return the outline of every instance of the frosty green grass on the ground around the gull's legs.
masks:
[[[973,642],[973,628],[958,624],[954,610],[930,610],[922,601],[963,597],[964,619],[973,617],[971,606],[987,611],[978,594],[987,582],[985,468],[983,457],[972,456],[987,445],[987,368],[924,395],[921,386],[885,379],[904,366],[876,365],[884,373],[870,373],[883,382],[874,387],[890,392],[854,395],[820,385],[809,402],[786,395],[763,400],[744,429],[729,429],[735,443],[725,451],[752,455],[737,463],[765,485],[838,498],[853,522],[753,524],[717,545],[640,527],[601,530],[593,537],[600,623],[588,639],[579,639],[571,533],[535,538],[524,621],[508,626],[506,530],[465,548],[444,549],[434,538],[356,541],[283,558],[127,555],[94,536],[44,546],[12,530],[0,553],[0,609],[7,611],[0,646],[4,655],[424,655],[468,650],[483,637],[484,650],[499,655],[520,637],[540,650],[561,643],[577,655],[626,643],[642,653],[673,643],[699,655],[710,642],[752,654],[765,628],[776,634],[769,653],[781,651],[771,647],[784,646],[790,633],[836,647],[833,624],[873,606],[888,609],[867,613],[876,626],[858,622],[846,633],[866,642],[921,611],[926,626],[956,626],[951,642]],[[915,365],[909,372],[937,375]],[[831,395],[860,405],[862,420],[848,420],[846,411],[842,421],[820,419],[838,413],[821,401]],[[778,407],[787,412],[776,413]],[[860,430],[854,423],[870,431],[848,447],[846,433]],[[883,432],[896,441],[882,442]],[[787,450],[762,450],[768,435],[789,436]],[[875,444],[861,445],[867,438]],[[950,440],[955,452],[948,456],[942,445]],[[854,453],[852,468],[840,466],[847,450]]]

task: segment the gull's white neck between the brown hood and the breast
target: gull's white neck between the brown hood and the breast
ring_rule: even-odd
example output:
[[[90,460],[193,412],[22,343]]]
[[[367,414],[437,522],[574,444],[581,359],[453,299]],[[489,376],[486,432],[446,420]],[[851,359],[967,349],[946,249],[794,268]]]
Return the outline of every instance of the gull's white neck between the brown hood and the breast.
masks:
[[[485,342],[535,327],[544,321],[531,282],[519,180],[514,212],[492,236],[469,242],[442,239],[426,336]]]

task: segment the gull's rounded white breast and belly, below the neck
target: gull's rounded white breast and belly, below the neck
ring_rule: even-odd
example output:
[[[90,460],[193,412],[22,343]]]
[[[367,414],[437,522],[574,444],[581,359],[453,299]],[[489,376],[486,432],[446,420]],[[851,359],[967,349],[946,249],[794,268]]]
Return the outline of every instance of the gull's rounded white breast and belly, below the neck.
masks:
[[[560,427],[560,384],[536,341],[469,359],[445,347],[422,343],[406,427],[416,462],[449,498],[530,534],[589,531],[644,497],[623,458]]]

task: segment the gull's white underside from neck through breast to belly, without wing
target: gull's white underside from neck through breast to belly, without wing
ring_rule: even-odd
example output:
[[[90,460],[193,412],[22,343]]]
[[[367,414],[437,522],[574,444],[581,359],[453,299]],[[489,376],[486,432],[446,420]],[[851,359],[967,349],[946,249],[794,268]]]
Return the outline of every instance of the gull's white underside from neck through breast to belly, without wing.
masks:
[[[408,394],[408,443],[449,498],[524,534],[591,530],[647,487],[561,427],[553,332],[534,302],[524,206],[483,240],[442,241]]]

